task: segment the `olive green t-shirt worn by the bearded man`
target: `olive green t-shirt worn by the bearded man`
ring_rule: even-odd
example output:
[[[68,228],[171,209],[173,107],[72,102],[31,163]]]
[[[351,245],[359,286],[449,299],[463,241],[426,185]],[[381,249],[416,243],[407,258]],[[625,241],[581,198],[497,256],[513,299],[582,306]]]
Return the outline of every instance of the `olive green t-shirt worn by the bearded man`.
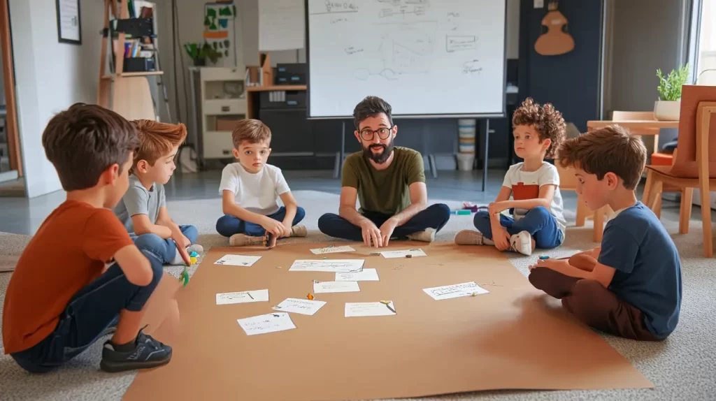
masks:
[[[343,164],[342,187],[358,190],[359,212],[393,215],[410,206],[413,182],[425,182],[422,155],[405,147],[393,148],[387,169],[377,170],[363,152],[349,155]]]

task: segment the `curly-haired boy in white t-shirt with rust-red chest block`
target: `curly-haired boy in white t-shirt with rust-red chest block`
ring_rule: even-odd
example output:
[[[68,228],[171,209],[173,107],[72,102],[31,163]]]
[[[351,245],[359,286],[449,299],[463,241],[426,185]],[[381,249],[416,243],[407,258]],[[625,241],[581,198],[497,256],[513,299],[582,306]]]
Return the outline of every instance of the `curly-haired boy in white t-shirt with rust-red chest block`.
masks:
[[[544,161],[553,157],[564,139],[562,114],[551,104],[540,106],[528,98],[513,114],[512,125],[515,153],[524,162],[510,167],[488,212],[475,214],[479,232],[458,232],[456,244],[494,245],[500,251],[531,255],[536,247],[551,249],[564,241],[559,175],[553,164]],[[511,210],[513,217],[504,210]]]

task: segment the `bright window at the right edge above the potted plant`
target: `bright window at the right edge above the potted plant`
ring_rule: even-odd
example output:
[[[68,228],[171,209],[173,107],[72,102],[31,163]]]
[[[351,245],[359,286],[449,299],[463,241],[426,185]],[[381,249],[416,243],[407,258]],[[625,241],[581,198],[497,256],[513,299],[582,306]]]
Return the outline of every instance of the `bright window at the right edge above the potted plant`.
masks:
[[[695,1],[694,11],[695,83],[716,86],[716,0]]]

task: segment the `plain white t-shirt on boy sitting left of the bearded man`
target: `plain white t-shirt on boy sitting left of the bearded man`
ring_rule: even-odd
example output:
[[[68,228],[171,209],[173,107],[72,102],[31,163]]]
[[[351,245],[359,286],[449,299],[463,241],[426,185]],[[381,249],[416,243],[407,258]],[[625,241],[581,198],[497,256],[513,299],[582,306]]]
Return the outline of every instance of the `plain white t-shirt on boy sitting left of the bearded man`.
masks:
[[[279,211],[279,196],[289,192],[281,169],[264,164],[256,174],[247,172],[241,163],[231,163],[221,172],[219,194],[231,191],[236,204],[249,212],[268,216]]]

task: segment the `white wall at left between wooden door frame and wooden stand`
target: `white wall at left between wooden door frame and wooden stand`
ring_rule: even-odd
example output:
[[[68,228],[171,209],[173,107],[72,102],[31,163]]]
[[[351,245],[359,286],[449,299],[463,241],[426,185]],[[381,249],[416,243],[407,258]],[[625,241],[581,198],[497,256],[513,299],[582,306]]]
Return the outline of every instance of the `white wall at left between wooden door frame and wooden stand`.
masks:
[[[55,0],[9,0],[28,197],[62,189],[42,147],[42,131],[49,119],[75,102],[97,102],[102,1],[80,1],[82,46],[57,41],[55,4]]]

